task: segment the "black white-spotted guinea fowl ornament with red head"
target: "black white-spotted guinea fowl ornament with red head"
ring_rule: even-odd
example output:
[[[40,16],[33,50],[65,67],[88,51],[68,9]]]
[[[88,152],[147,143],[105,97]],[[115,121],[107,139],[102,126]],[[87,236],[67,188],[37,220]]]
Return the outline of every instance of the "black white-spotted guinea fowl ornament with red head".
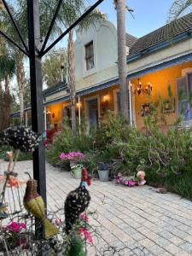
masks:
[[[86,189],[86,185],[90,186],[90,179],[90,174],[88,174],[87,170],[83,168],[79,187],[67,195],[64,207],[67,235],[71,230],[73,230],[73,225],[79,219],[80,213],[84,212],[84,210],[89,206],[90,194]]]

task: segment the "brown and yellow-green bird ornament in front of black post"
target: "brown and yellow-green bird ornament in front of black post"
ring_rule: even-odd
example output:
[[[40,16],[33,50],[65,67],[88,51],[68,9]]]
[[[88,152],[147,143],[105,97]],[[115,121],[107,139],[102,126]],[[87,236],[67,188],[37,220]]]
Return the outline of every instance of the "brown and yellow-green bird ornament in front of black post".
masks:
[[[27,172],[26,172],[27,173]],[[29,175],[29,173],[27,173]],[[29,175],[30,177],[30,175]],[[32,216],[38,218],[44,225],[44,238],[49,239],[58,233],[58,229],[54,224],[49,222],[48,218],[44,215],[44,201],[43,198],[38,195],[37,192],[38,181],[30,179],[26,183],[26,194],[24,195],[24,207]]]

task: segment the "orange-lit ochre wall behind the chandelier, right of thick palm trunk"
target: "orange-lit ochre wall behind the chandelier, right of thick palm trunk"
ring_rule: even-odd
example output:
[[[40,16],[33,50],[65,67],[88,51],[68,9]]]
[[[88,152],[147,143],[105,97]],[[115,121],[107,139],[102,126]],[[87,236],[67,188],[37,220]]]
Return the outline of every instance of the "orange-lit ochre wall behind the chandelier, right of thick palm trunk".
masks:
[[[158,72],[149,73],[139,78],[143,84],[148,84],[148,82],[153,84],[153,89],[151,92],[151,99],[153,100],[153,102],[157,99],[157,96],[159,94],[163,98],[168,98],[167,87],[168,87],[168,84],[171,84],[172,94],[173,94],[173,97],[176,99],[176,107],[175,107],[176,111],[175,113],[166,114],[167,125],[173,125],[174,121],[177,119],[177,87],[176,87],[177,78],[181,78],[182,70],[188,67],[192,67],[192,61],[183,63],[182,65],[177,65],[175,67],[165,68]],[[131,83],[138,84],[138,80],[133,79],[131,80]],[[143,128],[143,117],[141,116],[140,109],[143,103],[147,103],[147,102],[150,102],[150,99],[148,98],[148,96],[143,96],[142,93],[139,96],[136,94],[135,115],[136,115],[137,129],[139,130]]]

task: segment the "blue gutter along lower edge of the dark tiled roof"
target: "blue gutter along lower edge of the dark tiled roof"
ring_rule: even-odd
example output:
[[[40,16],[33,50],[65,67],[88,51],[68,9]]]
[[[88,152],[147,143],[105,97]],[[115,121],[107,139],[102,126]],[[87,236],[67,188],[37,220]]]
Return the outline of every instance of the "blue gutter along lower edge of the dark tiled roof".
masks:
[[[155,51],[158,51],[160,49],[165,49],[166,47],[171,46],[172,44],[177,44],[178,42],[183,41],[184,39],[191,38],[191,36],[192,36],[191,30],[189,30],[187,32],[183,32],[174,38],[170,38],[164,42],[161,42],[160,44],[155,44],[147,49],[143,49],[142,51],[140,51],[137,54],[128,55],[126,58],[126,62],[131,63],[132,61],[137,61],[138,59],[142,58],[145,55],[149,55],[149,54],[151,54]]]

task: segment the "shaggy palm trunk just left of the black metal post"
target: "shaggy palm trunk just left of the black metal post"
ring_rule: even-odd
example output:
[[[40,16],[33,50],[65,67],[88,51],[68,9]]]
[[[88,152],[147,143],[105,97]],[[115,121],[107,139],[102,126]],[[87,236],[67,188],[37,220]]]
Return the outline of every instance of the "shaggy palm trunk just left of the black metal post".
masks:
[[[23,65],[23,54],[19,54],[17,60],[17,83],[20,90],[20,125],[24,125],[24,95],[25,95],[25,70]]]

